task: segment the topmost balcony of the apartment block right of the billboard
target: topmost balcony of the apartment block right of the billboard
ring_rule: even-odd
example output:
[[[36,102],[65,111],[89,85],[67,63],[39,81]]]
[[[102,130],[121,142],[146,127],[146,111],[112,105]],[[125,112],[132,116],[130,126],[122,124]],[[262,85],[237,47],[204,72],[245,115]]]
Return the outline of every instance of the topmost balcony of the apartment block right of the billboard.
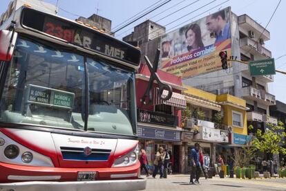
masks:
[[[252,30],[256,34],[261,34],[261,37],[265,39],[265,41],[270,39],[269,31],[260,24],[258,24],[256,21],[254,21],[254,19],[251,19],[248,15],[238,16],[238,24],[240,30],[242,29],[244,29],[245,31]]]

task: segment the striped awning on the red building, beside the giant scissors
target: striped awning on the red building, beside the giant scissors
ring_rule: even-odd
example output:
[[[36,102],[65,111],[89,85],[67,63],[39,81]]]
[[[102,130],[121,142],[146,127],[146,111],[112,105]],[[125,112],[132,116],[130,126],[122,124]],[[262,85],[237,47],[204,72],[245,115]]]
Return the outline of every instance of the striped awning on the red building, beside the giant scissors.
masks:
[[[159,93],[159,89],[155,88],[155,96],[154,96],[154,105],[157,104],[168,104],[171,105],[173,107],[177,107],[180,109],[186,109],[187,108],[187,104],[186,104],[186,100],[184,99],[184,96],[180,93],[172,93],[172,96],[169,100],[162,100],[160,97],[160,93]],[[168,91],[164,90],[162,97],[166,97],[168,95]]]

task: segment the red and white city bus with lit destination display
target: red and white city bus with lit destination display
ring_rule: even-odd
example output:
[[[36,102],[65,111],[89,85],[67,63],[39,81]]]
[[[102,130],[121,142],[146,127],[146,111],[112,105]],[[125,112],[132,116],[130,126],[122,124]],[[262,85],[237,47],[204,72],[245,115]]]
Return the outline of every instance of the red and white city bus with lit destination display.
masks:
[[[140,51],[30,6],[0,26],[0,190],[144,190]]]

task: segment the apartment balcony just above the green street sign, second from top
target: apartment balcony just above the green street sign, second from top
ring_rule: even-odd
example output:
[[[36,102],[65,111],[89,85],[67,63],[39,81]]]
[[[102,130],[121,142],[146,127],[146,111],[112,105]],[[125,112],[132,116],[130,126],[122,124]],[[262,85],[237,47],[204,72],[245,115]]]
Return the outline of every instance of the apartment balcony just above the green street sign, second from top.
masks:
[[[247,53],[255,55],[257,58],[256,60],[263,60],[271,57],[271,51],[249,37],[240,39],[239,43],[240,48]]]

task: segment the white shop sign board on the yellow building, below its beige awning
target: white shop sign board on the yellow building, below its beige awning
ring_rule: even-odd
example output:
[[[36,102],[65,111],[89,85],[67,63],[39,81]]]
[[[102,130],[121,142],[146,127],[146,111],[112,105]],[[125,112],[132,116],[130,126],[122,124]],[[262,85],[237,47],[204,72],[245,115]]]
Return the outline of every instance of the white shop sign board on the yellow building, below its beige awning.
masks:
[[[199,127],[198,134],[193,137],[196,140],[207,140],[209,142],[229,143],[229,131]]]

